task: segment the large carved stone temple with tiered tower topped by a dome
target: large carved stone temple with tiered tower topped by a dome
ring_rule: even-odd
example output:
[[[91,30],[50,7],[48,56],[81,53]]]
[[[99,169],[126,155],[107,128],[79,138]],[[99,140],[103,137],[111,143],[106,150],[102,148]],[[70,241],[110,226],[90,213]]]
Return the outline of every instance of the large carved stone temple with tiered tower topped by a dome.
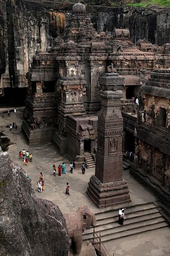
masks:
[[[117,69],[124,75],[121,111],[136,112],[133,98],[153,67],[170,66],[169,48],[157,47],[156,54],[146,52],[140,49],[141,40],[137,48],[129,38],[128,29],[98,34],[85,5],[73,5],[64,33],[53,40],[46,52],[37,51],[27,73],[29,86],[22,132],[29,144],[52,141],[60,153],[69,152],[79,160],[84,159],[85,151],[95,154],[100,93],[105,87],[99,85],[99,79],[102,82],[100,77],[105,72]],[[123,80],[119,77],[115,82],[119,85]],[[116,117],[113,113],[111,116]],[[115,140],[109,144],[113,154]],[[74,144],[72,149],[69,143]]]

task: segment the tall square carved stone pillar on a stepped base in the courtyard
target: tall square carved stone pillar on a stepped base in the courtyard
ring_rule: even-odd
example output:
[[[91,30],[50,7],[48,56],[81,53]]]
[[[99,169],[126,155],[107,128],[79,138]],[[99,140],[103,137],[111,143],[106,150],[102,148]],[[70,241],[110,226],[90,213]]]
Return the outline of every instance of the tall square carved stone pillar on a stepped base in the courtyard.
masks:
[[[87,194],[99,208],[131,202],[128,183],[122,174],[123,118],[120,99],[124,77],[108,73],[99,78],[101,111],[98,118],[96,170]]]

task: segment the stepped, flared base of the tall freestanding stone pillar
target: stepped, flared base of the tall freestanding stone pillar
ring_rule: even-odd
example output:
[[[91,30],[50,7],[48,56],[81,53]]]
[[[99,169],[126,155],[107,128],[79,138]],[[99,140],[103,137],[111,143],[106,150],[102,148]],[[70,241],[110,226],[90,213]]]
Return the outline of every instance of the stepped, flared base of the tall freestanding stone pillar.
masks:
[[[124,179],[102,183],[95,175],[92,175],[88,185],[87,194],[97,204],[98,208],[131,202],[128,183]]]

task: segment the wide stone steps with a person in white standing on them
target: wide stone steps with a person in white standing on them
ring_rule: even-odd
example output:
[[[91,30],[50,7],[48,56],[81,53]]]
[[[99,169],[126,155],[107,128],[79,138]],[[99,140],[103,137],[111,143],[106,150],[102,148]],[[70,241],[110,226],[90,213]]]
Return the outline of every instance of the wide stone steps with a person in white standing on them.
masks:
[[[154,203],[128,207],[124,211],[123,226],[118,224],[118,210],[109,210],[95,214],[97,219],[95,232],[98,236],[101,234],[102,242],[168,226],[162,214],[159,212],[160,207],[157,207]],[[93,229],[91,227],[84,231],[83,241],[92,240]]]

